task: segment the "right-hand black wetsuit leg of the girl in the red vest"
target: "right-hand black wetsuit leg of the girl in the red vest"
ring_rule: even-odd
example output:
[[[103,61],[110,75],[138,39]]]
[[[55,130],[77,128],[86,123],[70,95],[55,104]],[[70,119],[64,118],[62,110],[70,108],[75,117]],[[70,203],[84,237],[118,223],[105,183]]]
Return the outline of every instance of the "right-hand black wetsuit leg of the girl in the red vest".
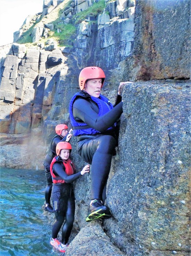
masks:
[[[70,197],[67,204],[66,221],[62,227],[62,243],[66,245],[72,231],[75,216],[75,199]]]

